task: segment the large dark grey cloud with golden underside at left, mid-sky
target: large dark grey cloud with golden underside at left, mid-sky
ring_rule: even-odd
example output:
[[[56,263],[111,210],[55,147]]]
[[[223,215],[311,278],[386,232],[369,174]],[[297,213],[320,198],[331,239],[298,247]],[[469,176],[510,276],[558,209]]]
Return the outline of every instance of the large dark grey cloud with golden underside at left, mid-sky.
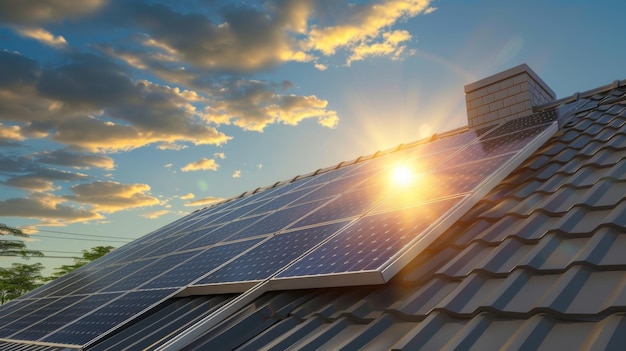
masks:
[[[124,68],[94,55],[67,59],[41,68],[22,55],[0,52],[0,73],[8,73],[0,74],[0,120],[21,123],[23,136],[92,152],[230,139],[196,118],[193,103],[201,99],[195,92],[132,81]]]

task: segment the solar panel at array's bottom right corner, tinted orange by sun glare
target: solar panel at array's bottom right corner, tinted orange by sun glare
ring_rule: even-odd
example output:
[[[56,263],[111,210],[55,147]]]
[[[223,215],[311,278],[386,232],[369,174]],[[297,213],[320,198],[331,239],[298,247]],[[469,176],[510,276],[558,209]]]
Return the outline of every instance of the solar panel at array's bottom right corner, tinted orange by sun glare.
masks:
[[[278,277],[377,269],[457,202],[443,200],[360,218]]]

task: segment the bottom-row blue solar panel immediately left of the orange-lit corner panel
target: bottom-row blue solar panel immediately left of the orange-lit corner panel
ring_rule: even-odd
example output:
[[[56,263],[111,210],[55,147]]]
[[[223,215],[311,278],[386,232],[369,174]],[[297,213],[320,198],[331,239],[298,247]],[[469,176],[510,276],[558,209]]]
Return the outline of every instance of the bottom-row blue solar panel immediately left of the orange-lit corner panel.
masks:
[[[267,279],[347,223],[333,223],[273,236],[195,285]]]

